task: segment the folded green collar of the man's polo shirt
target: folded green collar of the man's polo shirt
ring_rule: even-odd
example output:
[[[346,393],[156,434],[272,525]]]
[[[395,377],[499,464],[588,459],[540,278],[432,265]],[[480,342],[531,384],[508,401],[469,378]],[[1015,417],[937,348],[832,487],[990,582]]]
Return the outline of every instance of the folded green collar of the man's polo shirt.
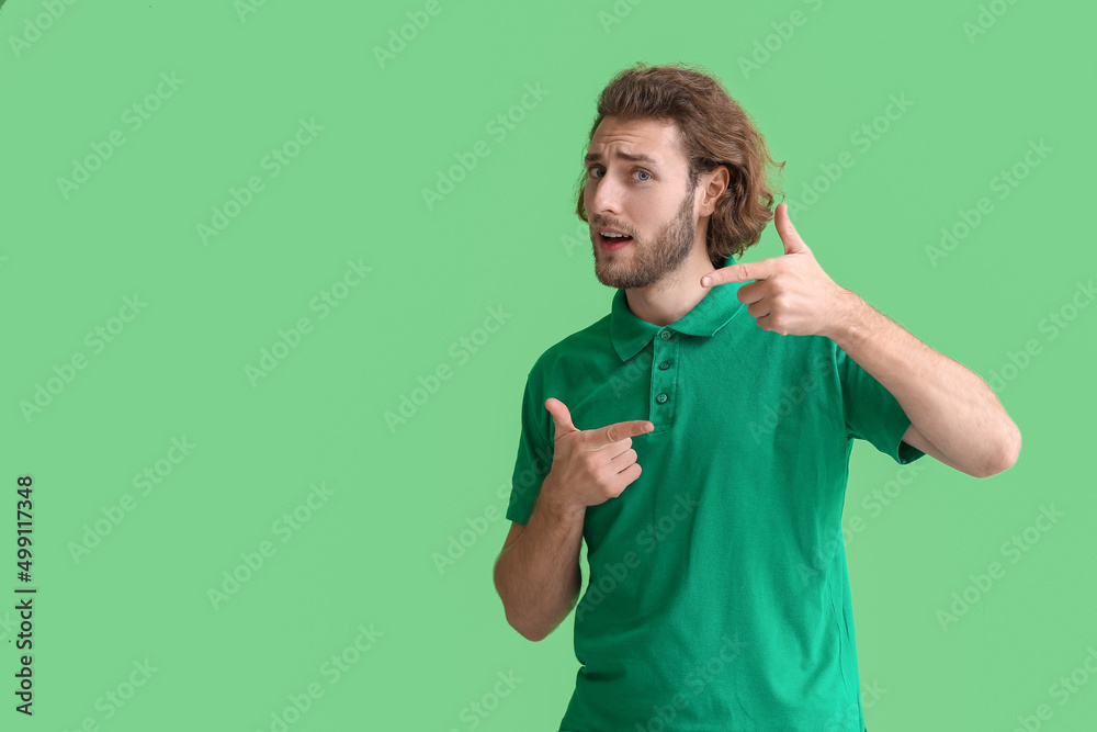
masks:
[[[724,260],[724,267],[734,263],[732,255]],[[689,336],[714,336],[743,307],[736,293],[744,284],[746,283],[728,282],[712,288],[693,309],[668,326],[658,326],[633,315],[629,309],[625,291],[619,289],[613,295],[613,309],[610,313],[613,348],[622,361],[627,361],[642,351],[664,327]]]

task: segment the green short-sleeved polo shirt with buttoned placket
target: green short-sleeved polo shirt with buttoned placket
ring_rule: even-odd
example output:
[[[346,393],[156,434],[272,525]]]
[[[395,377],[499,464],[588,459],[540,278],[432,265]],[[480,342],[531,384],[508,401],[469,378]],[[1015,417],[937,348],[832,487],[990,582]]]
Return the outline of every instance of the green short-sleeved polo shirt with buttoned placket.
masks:
[[[758,327],[743,284],[666,327],[618,290],[530,371],[511,521],[529,522],[552,466],[546,398],[578,429],[655,425],[633,438],[640,477],[586,511],[561,732],[864,730],[841,540],[850,450],[925,453],[875,379],[829,338]]]

